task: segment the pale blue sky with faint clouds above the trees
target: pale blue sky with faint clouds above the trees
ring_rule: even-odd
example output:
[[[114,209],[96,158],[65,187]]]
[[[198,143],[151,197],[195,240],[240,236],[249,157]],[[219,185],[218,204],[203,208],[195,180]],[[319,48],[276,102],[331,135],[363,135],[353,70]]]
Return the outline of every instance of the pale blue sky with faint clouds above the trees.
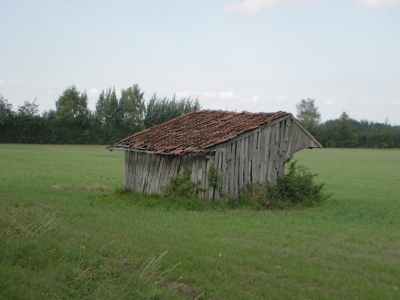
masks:
[[[400,0],[0,0],[0,93],[55,109],[68,86],[137,83],[203,109],[400,124]]]

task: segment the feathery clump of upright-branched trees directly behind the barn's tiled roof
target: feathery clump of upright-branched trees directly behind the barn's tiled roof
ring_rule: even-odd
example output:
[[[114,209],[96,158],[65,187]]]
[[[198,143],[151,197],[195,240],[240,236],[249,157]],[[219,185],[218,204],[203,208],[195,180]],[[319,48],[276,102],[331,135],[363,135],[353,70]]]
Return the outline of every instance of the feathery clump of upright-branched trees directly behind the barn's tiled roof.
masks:
[[[158,98],[154,93],[146,105],[144,125],[148,128],[197,109],[200,109],[197,98],[193,100],[191,97],[185,97],[176,100],[175,95],[172,99]]]

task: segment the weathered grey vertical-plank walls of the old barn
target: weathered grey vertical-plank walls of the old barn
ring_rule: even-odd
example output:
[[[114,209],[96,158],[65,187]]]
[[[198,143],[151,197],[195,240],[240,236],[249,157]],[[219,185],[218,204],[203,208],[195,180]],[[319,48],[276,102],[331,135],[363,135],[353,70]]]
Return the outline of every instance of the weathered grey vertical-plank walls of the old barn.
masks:
[[[198,182],[198,197],[219,198],[220,192],[237,196],[247,182],[275,183],[277,175],[283,174],[284,162],[294,152],[319,146],[297,121],[286,117],[218,145],[211,155],[126,151],[124,186],[138,192],[157,193],[185,165],[191,170],[191,180]],[[211,166],[217,170],[217,187],[209,184]]]

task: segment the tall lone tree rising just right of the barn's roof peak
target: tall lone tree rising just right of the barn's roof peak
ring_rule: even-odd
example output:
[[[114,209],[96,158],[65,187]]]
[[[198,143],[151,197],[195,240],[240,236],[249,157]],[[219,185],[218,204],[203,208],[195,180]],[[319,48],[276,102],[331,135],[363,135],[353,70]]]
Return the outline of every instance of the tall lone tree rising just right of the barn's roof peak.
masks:
[[[296,117],[300,123],[312,134],[316,134],[317,127],[321,122],[321,114],[315,106],[315,99],[301,99],[296,103]]]

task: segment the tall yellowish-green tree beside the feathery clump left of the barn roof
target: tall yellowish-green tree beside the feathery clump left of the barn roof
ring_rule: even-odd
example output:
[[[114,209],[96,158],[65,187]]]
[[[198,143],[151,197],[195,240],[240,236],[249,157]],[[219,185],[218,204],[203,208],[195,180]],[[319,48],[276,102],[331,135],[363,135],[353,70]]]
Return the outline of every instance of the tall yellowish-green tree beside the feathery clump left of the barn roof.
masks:
[[[123,135],[132,134],[144,129],[143,117],[145,111],[144,92],[140,92],[137,84],[133,84],[126,89],[121,90],[119,99],[119,109],[122,113]]]

